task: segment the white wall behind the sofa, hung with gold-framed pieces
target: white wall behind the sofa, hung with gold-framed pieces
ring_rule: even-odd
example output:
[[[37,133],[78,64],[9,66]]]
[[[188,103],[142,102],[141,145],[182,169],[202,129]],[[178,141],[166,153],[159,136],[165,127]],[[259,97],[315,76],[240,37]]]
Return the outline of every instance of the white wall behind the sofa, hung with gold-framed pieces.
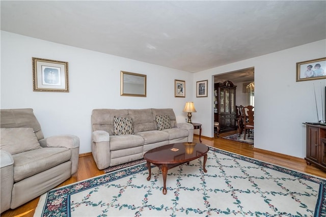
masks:
[[[68,61],[70,91],[33,91],[32,57]],[[121,97],[120,71],[146,74],[147,97]],[[185,98],[174,97],[174,79],[185,81]],[[91,151],[93,109],[173,108],[185,121],[192,92],[189,72],[1,32],[1,108],[33,108],[45,137],[76,135],[80,153]]]

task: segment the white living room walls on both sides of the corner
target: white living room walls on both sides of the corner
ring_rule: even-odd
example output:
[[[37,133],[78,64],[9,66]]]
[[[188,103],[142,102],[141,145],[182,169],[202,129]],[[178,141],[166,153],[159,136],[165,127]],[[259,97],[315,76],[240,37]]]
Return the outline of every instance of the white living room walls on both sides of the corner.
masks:
[[[1,108],[33,108],[44,136],[74,134],[80,153],[91,151],[95,108],[173,108],[184,121],[184,104],[194,101],[193,122],[203,124],[203,136],[213,137],[213,75],[255,67],[255,147],[303,158],[302,123],[317,121],[313,84],[324,88],[326,80],[296,82],[295,64],[325,57],[325,47],[322,40],[193,74],[1,32]],[[68,61],[70,92],[34,92],[32,57]],[[121,70],[147,75],[146,98],[120,96]],[[174,97],[174,79],[186,82],[185,98]],[[196,98],[196,81],[206,79],[208,97]]]

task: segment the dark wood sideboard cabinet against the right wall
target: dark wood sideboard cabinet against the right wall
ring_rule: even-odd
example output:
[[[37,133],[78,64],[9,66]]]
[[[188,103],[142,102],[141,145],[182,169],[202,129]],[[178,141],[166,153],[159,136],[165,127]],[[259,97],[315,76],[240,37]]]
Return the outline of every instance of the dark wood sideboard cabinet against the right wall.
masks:
[[[307,153],[306,162],[308,165],[314,164],[326,171],[326,126],[311,125],[307,127]]]

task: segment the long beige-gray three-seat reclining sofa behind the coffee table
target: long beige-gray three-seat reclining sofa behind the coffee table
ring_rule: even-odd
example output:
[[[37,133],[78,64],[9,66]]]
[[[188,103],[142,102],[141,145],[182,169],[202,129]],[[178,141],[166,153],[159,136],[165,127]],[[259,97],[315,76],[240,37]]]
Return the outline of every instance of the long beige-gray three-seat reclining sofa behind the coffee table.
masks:
[[[170,128],[157,130],[156,115],[167,115]],[[115,117],[132,119],[133,134],[115,135]],[[194,126],[177,123],[173,109],[94,109],[92,153],[98,169],[139,160],[162,145],[193,142]]]

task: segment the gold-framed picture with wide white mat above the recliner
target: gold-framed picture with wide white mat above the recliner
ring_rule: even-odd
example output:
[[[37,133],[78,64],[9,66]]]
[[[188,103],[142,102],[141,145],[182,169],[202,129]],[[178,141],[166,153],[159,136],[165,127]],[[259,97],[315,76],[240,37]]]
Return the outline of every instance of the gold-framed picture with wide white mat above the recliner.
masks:
[[[68,62],[32,58],[33,91],[69,92]]]

